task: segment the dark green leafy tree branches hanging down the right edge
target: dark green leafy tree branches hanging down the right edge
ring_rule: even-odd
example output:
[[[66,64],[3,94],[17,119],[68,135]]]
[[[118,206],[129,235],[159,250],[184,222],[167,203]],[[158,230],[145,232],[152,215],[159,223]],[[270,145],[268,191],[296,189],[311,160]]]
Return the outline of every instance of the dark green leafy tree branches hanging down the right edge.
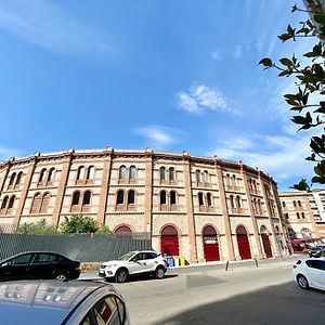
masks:
[[[291,12],[306,12],[308,20],[300,22],[299,28],[288,25],[286,32],[278,36],[285,42],[298,41],[309,37],[315,38],[315,43],[303,54],[303,61],[298,60],[295,54],[291,57],[282,57],[278,63],[272,58],[264,57],[259,64],[264,69],[277,69],[278,77],[295,77],[296,93],[284,95],[285,101],[294,112],[292,122],[299,126],[299,130],[314,128],[321,132],[318,136],[311,136],[311,155],[307,160],[314,162],[314,177],[311,183],[325,184],[325,13],[320,0],[307,0],[307,10],[299,9],[296,4]],[[306,180],[292,186],[297,190],[310,190]]]

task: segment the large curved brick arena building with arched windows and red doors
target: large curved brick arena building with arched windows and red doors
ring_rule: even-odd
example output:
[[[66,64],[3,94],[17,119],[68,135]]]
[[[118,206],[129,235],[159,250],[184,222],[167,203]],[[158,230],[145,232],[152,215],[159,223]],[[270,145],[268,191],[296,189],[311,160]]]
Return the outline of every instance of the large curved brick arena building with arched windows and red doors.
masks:
[[[214,157],[75,151],[0,165],[0,223],[82,213],[114,232],[151,232],[153,248],[190,262],[288,253],[274,180]]]

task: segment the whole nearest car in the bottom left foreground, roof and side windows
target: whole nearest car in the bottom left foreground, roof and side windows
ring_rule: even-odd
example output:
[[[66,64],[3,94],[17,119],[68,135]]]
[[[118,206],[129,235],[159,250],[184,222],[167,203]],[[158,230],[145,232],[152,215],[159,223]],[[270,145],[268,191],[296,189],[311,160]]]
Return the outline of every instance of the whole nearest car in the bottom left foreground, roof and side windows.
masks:
[[[0,284],[1,324],[129,324],[120,294],[103,282],[12,281]]]

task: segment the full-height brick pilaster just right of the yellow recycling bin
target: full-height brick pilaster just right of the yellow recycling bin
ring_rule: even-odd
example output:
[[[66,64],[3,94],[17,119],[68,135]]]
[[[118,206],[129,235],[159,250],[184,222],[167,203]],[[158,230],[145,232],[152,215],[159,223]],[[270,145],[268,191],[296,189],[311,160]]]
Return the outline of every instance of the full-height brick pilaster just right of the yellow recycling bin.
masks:
[[[193,210],[191,162],[190,162],[190,156],[186,152],[183,152],[183,170],[184,170],[186,218],[187,218],[188,244],[190,244],[190,260],[192,263],[197,263],[197,245],[196,245],[196,230],[195,230],[194,210]]]

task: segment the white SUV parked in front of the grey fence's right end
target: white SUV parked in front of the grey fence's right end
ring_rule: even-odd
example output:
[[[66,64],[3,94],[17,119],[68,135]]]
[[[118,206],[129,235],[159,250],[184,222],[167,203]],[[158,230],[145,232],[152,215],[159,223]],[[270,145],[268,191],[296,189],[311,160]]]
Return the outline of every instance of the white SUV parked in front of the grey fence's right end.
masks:
[[[130,275],[153,274],[162,278],[167,263],[160,252],[153,250],[129,251],[118,260],[108,261],[101,265],[99,275],[105,280],[114,278],[117,283],[126,282]]]

